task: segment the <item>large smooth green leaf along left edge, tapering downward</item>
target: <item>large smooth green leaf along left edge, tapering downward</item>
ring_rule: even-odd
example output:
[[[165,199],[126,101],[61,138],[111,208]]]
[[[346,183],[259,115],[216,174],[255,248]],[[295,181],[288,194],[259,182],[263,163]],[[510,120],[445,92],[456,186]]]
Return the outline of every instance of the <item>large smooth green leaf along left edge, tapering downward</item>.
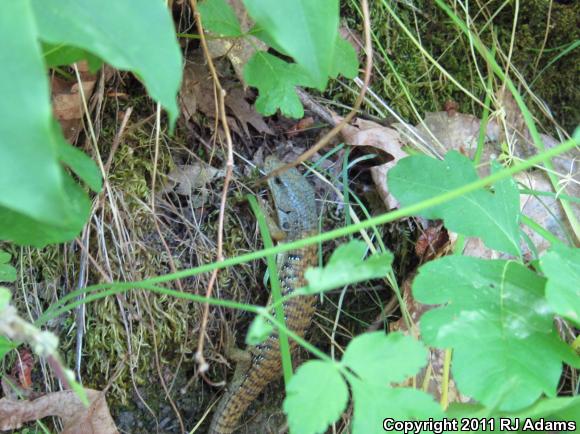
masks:
[[[0,5],[0,40],[0,207],[59,223],[70,216],[49,123],[48,82],[27,2]]]

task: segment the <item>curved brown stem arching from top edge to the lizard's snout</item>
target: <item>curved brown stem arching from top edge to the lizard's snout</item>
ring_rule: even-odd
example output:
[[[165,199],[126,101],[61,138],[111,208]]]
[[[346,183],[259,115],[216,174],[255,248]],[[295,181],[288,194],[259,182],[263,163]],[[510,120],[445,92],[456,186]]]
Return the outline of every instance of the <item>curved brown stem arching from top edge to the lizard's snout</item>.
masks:
[[[330,140],[334,136],[336,136],[346,126],[346,124],[348,124],[352,120],[352,118],[354,118],[354,116],[357,114],[358,109],[364,100],[367,88],[369,86],[369,82],[371,80],[371,70],[373,68],[373,47],[371,44],[371,25],[369,18],[369,5],[367,0],[361,0],[361,9],[363,14],[363,24],[365,33],[366,63],[365,63],[363,86],[361,87],[360,93],[358,94],[356,101],[354,102],[352,110],[332,130],[326,133],[326,135],[322,139],[320,139],[312,148],[310,148],[308,151],[300,155],[295,161],[272,171],[265,177],[265,179],[269,179],[273,176],[278,176],[280,175],[280,173],[285,172],[286,170],[291,169],[292,167],[296,167],[300,163],[303,163],[306,160],[308,160],[320,149],[326,146],[328,142],[330,142]]]

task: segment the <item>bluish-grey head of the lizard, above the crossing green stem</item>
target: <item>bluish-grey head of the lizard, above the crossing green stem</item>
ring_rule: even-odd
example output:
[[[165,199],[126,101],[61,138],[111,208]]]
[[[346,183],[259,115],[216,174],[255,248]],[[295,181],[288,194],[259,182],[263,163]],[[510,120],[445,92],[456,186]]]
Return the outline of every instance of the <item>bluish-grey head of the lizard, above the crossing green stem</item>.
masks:
[[[264,170],[270,173],[283,163],[266,157]],[[292,168],[268,179],[268,187],[278,215],[278,225],[290,237],[315,231],[318,225],[314,189],[298,170]]]

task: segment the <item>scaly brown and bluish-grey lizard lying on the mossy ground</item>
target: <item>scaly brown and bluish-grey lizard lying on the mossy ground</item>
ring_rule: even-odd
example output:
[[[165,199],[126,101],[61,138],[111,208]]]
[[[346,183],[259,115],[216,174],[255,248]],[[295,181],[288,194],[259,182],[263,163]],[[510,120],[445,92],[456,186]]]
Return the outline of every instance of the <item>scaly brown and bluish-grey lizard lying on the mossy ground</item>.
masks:
[[[266,172],[280,167],[275,157],[267,157]],[[296,170],[290,169],[268,180],[278,225],[285,233],[286,241],[305,238],[316,232],[318,219],[314,190]],[[282,294],[287,295],[305,285],[304,271],[316,265],[316,247],[309,246],[292,250],[278,258],[278,273]],[[315,296],[292,298],[284,303],[286,326],[303,336],[314,315]],[[296,345],[291,342],[291,347]],[[236,366],[234,380],[219,402],[214,413],[209,433],[228,434],[233,432],[248,406],[264,387],[281,375],[280,343],[277,332],[259,345],[247,348],[249,363]]]

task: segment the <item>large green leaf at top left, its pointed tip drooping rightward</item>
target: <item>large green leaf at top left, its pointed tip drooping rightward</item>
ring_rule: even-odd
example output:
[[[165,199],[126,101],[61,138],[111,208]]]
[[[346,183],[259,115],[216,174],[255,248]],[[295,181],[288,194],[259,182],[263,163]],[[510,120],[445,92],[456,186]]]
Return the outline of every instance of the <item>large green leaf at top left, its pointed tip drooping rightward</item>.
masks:
[[[164,2],[142,0],[139,7],[118,0],[30,3],[42,41],[78,47],[116,68],[135,72],[149,94],[167,109],[171,123],[175,122],[182,60]],[[24,29],[13,35],[22,33]]]

